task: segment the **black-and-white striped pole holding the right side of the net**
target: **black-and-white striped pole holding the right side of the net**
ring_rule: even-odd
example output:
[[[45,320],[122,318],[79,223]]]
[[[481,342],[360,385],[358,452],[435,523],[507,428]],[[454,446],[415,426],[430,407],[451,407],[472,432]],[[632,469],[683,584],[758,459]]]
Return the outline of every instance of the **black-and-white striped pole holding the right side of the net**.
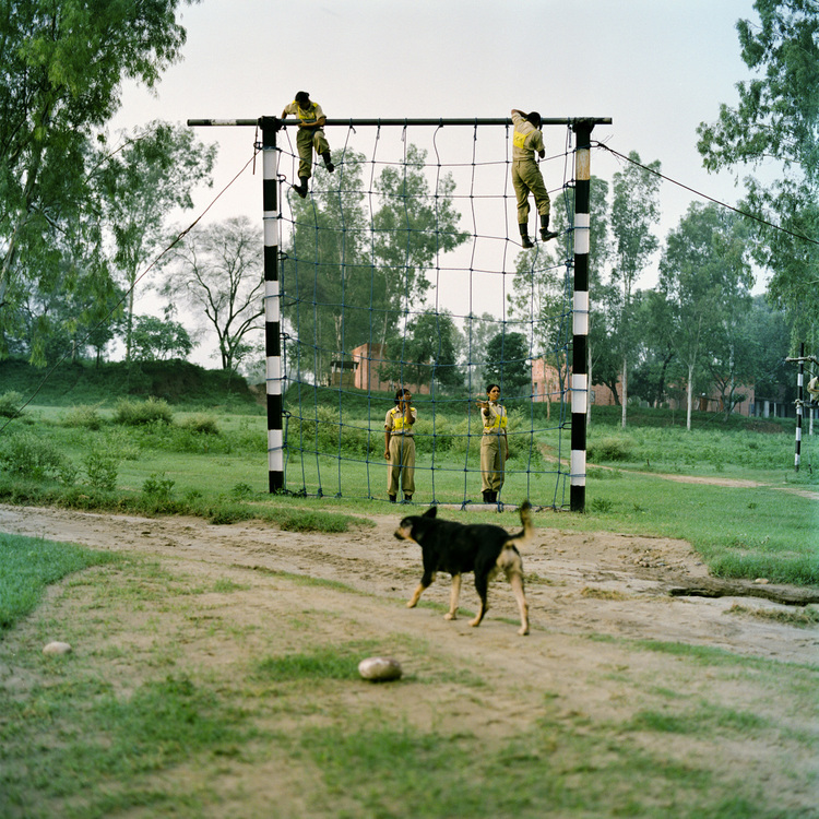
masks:
[[[574,296],[572,301],[571,355],[571,461],[569,507],[585,511],[585,432],[589,406],[589,247],[591,233],[591,154],[594,120],[572,126],[574,150]]]

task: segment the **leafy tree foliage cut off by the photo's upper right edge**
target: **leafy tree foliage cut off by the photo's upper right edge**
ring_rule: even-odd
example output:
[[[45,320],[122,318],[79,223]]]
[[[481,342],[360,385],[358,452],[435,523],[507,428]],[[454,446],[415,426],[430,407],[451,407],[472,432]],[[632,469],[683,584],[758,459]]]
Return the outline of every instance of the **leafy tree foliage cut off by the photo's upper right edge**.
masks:
[[[756,260],[772,271],[768,292],[784,307],[795,342],[819,344],[819,8],[816,0],[756,0],[760,22],[737,23],[741,57],[756,72],[739,103],[702,122],[698,149],[709,170],[782,169],[746,178],[744,210],[757,223]],[[770,176],[770,174],[767,174]],[[790,233],[787,233],[790,232]],[[799,237],[808,237],[799,238]]]

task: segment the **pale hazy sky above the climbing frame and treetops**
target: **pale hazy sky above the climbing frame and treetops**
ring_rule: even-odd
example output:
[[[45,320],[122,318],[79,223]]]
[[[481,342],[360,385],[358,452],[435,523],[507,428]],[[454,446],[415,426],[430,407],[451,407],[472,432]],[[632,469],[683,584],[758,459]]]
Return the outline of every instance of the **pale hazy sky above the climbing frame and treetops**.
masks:
[[[330,118],[496,118],[511,108],[610,117],[593,140],[660,159],[663,174],[714,199],[735,204],[741,195],[732,174],[703,169],[697,127],[715,120],[721,104],[733,106],[736,83],[749,78],[736,22],[758,20],[752,0],[202,0],[179,15],[188,33],[182,60],[153,92],[126,84],[111,130],[154,119],[278,116],[300,90]],[[351,139],[346,128],[327,131],[334,151]],[[198,190],[180,221],[192,221],[230,183],[256,139],[253,128],[226,127],[198,128],[197,136],[218,145],[214,187]],[[565,128],[544,128],[547,155],[562,152],[566,136]],[[366,133],[353,139],[356,150],[375,150]],[[609,182],[621,167],[605,151],[592,154],[592,174]],[[550,189],[562,181],[562,165],[544,173]],[[663,183],[661,241],[693,200]],[[261,225],[260,162],[204,224],[237,215]],[[656,260],[638,286],[653,286],[655,268]],[[202,348],[194,359],[205,364],[206,355]]]

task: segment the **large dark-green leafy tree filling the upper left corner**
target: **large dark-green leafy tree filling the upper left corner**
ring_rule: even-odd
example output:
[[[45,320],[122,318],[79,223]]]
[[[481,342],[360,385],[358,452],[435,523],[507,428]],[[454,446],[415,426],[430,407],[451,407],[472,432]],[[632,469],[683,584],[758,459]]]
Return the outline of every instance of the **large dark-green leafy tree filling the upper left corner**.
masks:
[[[183,0],[88,2],[0,0],[0,320],[39,281],[55,292],[69,253],[82,292],[98,265],[75,264],[78,249],[102,252],[90,211],[93,132],[120,105],[120,85],[149,87],[175,62]],[[57,284],[55,283],[57,281]],[[12,319],[13,320],[13,319]]]

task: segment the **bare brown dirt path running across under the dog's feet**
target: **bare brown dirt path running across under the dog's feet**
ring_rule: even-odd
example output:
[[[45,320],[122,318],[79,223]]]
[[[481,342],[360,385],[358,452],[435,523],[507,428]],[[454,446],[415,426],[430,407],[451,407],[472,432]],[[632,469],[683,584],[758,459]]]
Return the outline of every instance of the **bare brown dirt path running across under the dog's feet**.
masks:
[[[373,595],[372,617],[377,619],[383,615],[377,598],[410,597],[420,577],[420,554],[416,546],[393,537],[395,517],[375,521],[375,530],[317,535],[281,532],[262,523],[215,526],[193,518],[143,519],[0,506],[2,532],[156,556],[213,578],[225,567],[261,567],[340,581]],[[785,606],[743,596],[669,596],[673,585],[708,574],[684,541],[538,529],[523,558],[532,637],[627,637],[719,646],[784,662],[819,660],[818,629],[729,614],[737,603],[752,609]],[[448,603],[448,580],[441,575],[425,600]],[[473,612],[476,608],[468,580],[461,603]],[[514,628],[499,619],[517,617],[505,581],[495,581],[489,603],[480,631],[519,639]],[[431,617],[422,609],[396,610],[407,625]],[[472,631],[465,619],[447,627],[459,634]],[[587,651],[594,652],[594,646]]]

